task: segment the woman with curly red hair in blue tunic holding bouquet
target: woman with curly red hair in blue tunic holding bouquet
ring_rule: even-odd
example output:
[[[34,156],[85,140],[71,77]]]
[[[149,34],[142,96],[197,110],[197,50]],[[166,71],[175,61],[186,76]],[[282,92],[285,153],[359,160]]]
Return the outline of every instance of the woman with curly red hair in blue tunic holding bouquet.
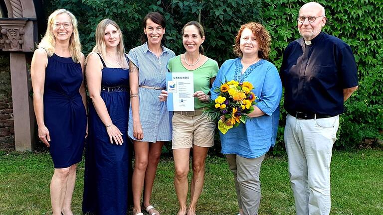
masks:
[[[222,64],[210,90],[211,99],[215,100],[219,92],[214,90],[220,89],[224,82],[249,82],[254,87],[252,93],[258,97],[245,123],[239,123],[225,134],[220,132],[222,153],[234,174],[240,215],[258,214],[261,197],[259,171],[277,135],[282,84],[276,67],[266,60],[270,41],[263,25],[255,22],[242,25],[233,45],[238,58]]]

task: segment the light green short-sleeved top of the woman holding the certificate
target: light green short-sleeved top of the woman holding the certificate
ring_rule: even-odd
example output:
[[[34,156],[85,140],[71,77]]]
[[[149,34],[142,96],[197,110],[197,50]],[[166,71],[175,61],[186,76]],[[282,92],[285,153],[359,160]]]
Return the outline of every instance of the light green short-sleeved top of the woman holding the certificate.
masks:
[[[173,57],[168,62],[170,72],[192,72],[194,80],[194,92],[203,91],[207,94],[210,91],[210,79],[217,76],[218,63],[213,59],[208,59],[204,64],[195,70],[188,70],[181,63],[181,55]],[[201,101],[194,98],[194,108],[202,108]]]

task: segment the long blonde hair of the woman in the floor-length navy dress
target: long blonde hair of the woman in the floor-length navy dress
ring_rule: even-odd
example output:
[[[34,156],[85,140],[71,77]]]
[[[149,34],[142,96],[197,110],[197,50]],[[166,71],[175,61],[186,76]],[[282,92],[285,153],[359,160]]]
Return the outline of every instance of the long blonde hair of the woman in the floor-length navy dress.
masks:
[[[100,23],[98,23],[98,25],[96,27],[96,32],[95,32],[96,45],[93,47],[92,52],[88,54],[88,57],[92,53],[100,53],[102,58],[105,59],[106,45],[105,45],[105,40],[104,40],[104,33],[105,33],[106,26],[108,26],[109,24],[111,24],[117,28],[117,32],[120,35],[120,43],[117,45],[117,54],[119,57],[124,56],[125,48],[124,48],[124,40],[123,40],[121,29],[115,21],[113,21],[109,18],[106,18],[106,19],[101,20]],[[87,57],[87,60],[88,60],[88,57]]]

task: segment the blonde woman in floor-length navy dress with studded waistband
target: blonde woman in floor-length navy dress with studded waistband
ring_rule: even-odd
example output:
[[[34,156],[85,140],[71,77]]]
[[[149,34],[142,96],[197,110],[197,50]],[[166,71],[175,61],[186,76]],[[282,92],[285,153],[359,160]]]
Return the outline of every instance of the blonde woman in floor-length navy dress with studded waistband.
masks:
[[[105,42],[106,50],[100,50],[101,42]],[[132,201],[127,135],[129,69],[123,50],[118,25],[110,19],[102,20],[96,28],[96,46],[86,67],[92,102],[85,153],[84,214],[126,215]]]

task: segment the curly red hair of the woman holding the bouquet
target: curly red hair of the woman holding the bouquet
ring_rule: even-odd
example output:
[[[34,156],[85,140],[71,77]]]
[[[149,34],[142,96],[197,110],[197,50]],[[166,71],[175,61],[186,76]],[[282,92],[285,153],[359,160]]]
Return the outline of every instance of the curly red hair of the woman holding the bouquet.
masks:
[[[258,57],[263,59],[268,59],[269,52],[270,52],[271,37],[269,32],[266,30],[266,28],[262,24],[257,22],[249,22],[249,23],[243,24],[239,28],[238,33],[235,36],[235,44],[233,45],[234,54],[237,55],[238,57],[242,57],[240,43],[241,43],[241,34],[245,28],[250,29],[255,35],[255,37],[257,38],[257,42],[259,45]]]

